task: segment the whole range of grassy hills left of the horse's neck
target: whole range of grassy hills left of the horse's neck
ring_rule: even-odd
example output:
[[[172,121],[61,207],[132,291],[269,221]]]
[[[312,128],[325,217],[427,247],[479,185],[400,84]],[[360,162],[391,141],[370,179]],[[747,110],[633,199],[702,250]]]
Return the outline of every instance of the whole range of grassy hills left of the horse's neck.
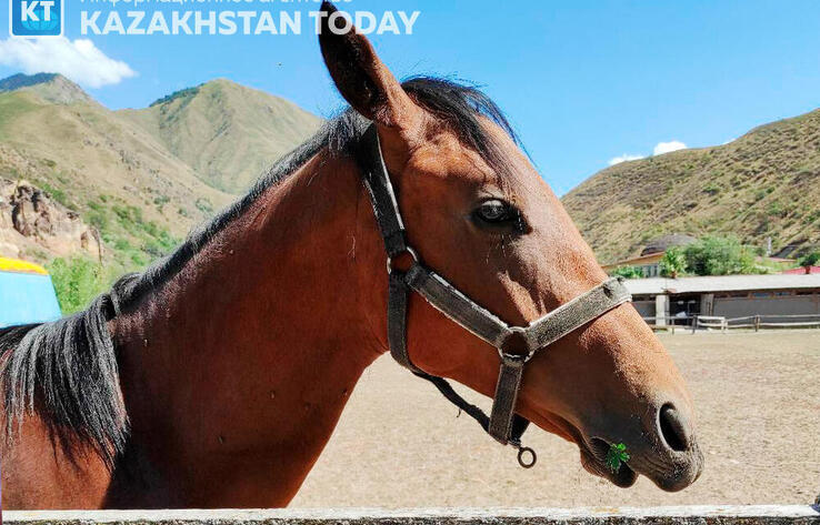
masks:
[[[47,219],[60,218],[62,235],[50,239],[9,219],[0,224],[0,255],[48,262],[72,250],[91,253],[89,235],[99,234],[107,260],[140,267],[234,200],[320,123],[283,99],[227,80],[121,111],[60,74],[0,80],[0,181],[8,190],[0,212],[53,204],[29,214],[46,228],[52,228]],[[28,208],[14,196],[21,188],[32,195]],[[76,242],[83,234],[86,241]]]

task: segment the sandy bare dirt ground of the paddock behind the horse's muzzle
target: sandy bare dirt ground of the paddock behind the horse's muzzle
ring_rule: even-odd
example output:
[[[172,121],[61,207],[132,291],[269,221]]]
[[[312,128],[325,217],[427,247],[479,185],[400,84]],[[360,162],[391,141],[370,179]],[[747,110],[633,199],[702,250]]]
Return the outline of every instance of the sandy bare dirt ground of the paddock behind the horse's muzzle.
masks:
[[[422,380],[382,357],[357,386],[292,502],[341,506],[812,503],[820,493],[820,331],[661,336],[689,383],[706,468],[668,494],[587,474],[574,445],[530,428],[524,471]],[[473,395],[478,401],[481,396]],[[488,406],[488,400],[481,400]]]

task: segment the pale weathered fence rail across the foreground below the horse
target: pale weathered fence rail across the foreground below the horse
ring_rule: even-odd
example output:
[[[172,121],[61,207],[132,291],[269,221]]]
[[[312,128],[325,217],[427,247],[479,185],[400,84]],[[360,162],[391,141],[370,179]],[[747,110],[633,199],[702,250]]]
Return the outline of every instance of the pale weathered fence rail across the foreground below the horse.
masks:
[[[809,505],[277,511],[36,511],[6,525],[820,525]]]

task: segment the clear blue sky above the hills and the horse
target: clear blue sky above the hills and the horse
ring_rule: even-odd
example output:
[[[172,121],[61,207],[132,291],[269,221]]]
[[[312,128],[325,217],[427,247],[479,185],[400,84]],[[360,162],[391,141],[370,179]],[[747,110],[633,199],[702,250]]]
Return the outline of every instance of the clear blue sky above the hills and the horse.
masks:
[[[118,67],[136,75],[89,80],[76,57],[48,48],[27,59],[6,37],[0,37],[0,75],[62,69],[110,108],[143,107],[216,77],[320,115],[342,103],[307,23],[300,36],[82,37],[80,10],[100,4],[66,2],[66,43],[88,38],[94,49],[89,54],[82,44],[82,57],[108,65],[124,62]],[[279,2],[266,8],[318,9],[311,1]],[[720,144],[754,125],[820,107],[817,1],[351,0],[342,6],[377,16],[421,11],[412,36],[372,37],[382,59],[399,77],[434,73],[482,84],[559,194],[614,158],[648,155],[661,142]],[[3,36],[6,28],[3,4]]]

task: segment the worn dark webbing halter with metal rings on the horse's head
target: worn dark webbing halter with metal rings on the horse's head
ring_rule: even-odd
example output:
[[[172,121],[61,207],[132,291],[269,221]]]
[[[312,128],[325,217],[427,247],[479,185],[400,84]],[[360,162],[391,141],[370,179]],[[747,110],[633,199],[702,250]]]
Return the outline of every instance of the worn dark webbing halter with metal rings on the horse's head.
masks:
[[[387,251],[390,354],[413,374],[436,385],[444,397],[474,418],[496,441],[518,448],[519,464],[524,468],[531,467],[536,464],[536,453],[532,448],[521,445],[521,435],[527,430],[529,421],[516,414],[516,401],[521,388],[524,364],[539,350],[616,306],[631,301],[632,296],[620,279],[610,279],[532,321],[529,326],[508,325],[461,293],[444,277],[424,266],[416,251],[407,244],[404,224],[384,165],[376,124],[371,123],[362,135],[361,149],[358,157],[362,182],[370,195],[376,222],[379,224]],[[412,264],[402,271],[393,265],[393,261],[404,254],[412,259]],[[410,361],[407,350],[407,304],[411,291],[421,294],[447,317],[498,350],[501,365],[489,416],[456,393],[444,378],[428,374]],[[530,457],[527,457],[528,455]]]

